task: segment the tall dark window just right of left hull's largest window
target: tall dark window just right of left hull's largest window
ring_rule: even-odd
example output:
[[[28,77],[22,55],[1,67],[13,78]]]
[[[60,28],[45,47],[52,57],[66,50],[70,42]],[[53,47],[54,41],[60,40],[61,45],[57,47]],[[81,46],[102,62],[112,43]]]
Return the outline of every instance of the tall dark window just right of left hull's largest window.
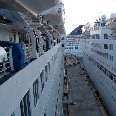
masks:
[[[39,82],[38,79],[33,83],[33,96],[34,96],[34,106],[36,107],[37,101],[39,99]]]

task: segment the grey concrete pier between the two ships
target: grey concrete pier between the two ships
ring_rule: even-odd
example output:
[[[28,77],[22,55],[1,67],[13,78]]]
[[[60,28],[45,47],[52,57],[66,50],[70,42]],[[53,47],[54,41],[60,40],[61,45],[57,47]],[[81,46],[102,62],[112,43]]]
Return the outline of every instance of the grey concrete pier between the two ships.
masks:
[[[67,106],[68,116],[107,116],[80,64],[74,59],[68,59],[66,63],[69,78],[68,100],[74,103]]]

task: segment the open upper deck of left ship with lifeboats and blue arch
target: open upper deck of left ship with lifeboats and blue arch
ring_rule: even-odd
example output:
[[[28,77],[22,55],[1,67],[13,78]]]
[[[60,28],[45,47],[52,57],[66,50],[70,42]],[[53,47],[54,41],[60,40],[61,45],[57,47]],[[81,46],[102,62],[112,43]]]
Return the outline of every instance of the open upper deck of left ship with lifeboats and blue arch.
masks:
[[[12,3],[16,4],[10,6]],[[0,46],[6,51],[7,58],[0,62],[0,84],[23,70],[65,37],[63,4],[59,0],[47,0],[45,4],[40,0],[33,4],[31,0],[1,1]],[[27,12],[29,7],[31,10]],[[50,9],[54,9],[55,14]],[[55,19],[57,20],[54,22]]]

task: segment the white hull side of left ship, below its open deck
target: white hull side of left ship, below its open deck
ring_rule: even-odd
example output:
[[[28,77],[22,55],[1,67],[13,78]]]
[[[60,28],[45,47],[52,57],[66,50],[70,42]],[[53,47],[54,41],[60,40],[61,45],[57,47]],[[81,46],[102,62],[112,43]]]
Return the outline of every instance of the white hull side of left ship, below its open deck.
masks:
[[[11,116],[13,113],[22,116],[22,110],[27,116],[61,116],[63,57],[62,46],[59,44],[1,85],[0,116]],[[25,99],[29,99],[27,102],[30,105],[25,104]],[[24,108],[25,105],[29,110]]]

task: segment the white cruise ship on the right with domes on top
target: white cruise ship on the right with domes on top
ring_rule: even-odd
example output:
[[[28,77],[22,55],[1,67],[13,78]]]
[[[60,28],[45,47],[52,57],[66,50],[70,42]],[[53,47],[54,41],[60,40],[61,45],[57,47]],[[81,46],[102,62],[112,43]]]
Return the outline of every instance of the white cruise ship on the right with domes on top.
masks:
[[[116,115],[116,14],[87,23],[77,35],[86,73],[109,115]]]

